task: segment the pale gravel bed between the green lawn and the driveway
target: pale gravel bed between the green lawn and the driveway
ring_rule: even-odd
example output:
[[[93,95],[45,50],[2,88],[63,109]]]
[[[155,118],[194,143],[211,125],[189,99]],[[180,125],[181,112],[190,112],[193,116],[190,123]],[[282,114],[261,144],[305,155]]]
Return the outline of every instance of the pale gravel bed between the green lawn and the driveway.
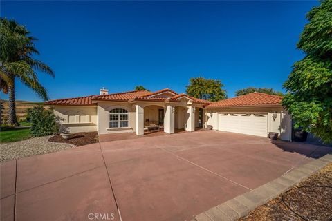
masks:
[[[48,142],[50,137],[52,136],[33,137],[19,142],[1,144],[0,162],[30,157],[32,155],[53,153],[73,147],[69,144]]]

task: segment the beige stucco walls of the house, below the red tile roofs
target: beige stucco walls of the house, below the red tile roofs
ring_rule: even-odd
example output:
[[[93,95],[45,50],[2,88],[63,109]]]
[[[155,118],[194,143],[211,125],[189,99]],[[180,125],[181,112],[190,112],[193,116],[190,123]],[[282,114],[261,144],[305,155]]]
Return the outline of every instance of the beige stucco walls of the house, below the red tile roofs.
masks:
[[[172,92],[154,95],[159,98],[172,96],[174,96]],[[97,131],[100,135],[108,133],[143,135],[152,125],[160,126],[165,133],[174,133],[176,129],[194,131],[199,126],[208,128],[210,125],[214,130],[262,137],[266,137],[269,132],[276,132],[282,140],[291,140],[291,116],[281,105],[205,108],[203,104],[193,104],[192,99],[183,96],[172,102],[167,100],[158,102],[158,99],[129,102],[95,100],[93,106],[53,106],[53,108],[55,115],[62,119],[62,131],[71,133]],[[125,115],[128,116],[128,126],[109,128],[110,111],[115,108],[127,111]],[[200,110],[203,114],[201,119]],[[116,117],[114,113],[112,116]],[[127,122],[118,122],[119,126],[120,123],[127,125]]]

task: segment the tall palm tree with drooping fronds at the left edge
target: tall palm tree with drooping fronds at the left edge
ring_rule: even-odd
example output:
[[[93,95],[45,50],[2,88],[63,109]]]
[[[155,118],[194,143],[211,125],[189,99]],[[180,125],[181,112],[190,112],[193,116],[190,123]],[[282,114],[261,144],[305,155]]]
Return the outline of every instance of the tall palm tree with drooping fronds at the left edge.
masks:
[[[37,39],[30,36],[30,32],[24,26],[19,25],[15,20],[1,18],[0,32],[1,90],[2,85],[4,85],[4,88],[8,87],[8,124],[19,126],[15,107],[15,79],[19,79],[24,85],[31,88],[37,96],[47,100],[46,89],[39,83],[36,71],[44,72],[52,77],[55,75],[49,66],[33,58],[33,55],[39,55],[34,44]]]

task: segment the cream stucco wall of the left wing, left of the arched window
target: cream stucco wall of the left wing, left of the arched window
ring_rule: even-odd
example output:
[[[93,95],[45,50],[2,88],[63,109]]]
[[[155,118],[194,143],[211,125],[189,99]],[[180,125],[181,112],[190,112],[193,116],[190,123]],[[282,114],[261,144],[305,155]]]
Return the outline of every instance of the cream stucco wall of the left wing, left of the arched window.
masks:
[[[97,106],[53,106],[53,113],[62,119],[60,131],[97,131]]]

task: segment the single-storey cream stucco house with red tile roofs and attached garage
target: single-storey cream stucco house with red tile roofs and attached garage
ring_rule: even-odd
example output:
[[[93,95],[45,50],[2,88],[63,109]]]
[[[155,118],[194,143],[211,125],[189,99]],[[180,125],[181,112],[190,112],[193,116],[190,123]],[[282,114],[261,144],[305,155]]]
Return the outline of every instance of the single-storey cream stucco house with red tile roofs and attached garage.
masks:
[[[277,132],[291,140],[291,117],[280,104],[282,97],[250,93],[210,102],[169,88],[150,92],[133,90],[109,94],[55,99],[46,102],[62,119],[61,128],[72,133],[97,131],[98,134],[131,132],[144,135],[151,128],[165,133],[195,128],[230,131],[267,137]]]

